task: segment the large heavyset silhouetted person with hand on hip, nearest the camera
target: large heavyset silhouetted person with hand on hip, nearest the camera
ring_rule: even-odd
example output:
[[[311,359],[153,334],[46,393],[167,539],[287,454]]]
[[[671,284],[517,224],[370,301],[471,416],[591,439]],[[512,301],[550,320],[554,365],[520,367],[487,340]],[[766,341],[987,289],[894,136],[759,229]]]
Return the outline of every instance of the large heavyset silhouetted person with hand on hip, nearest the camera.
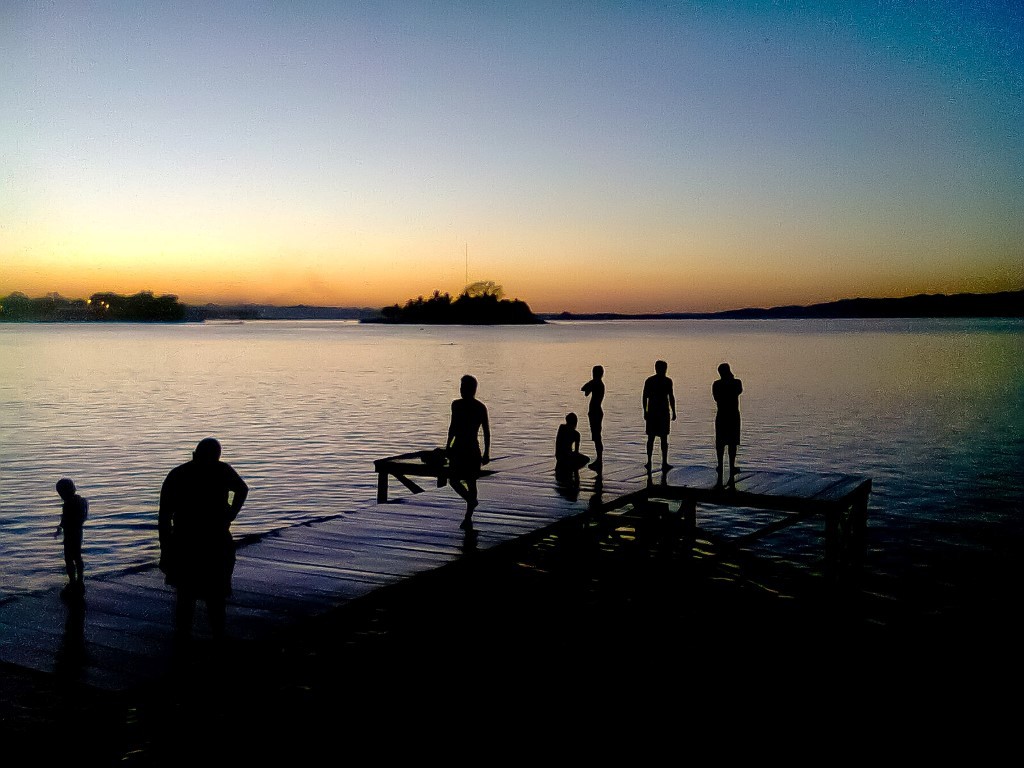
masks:
[[[231,592],[234,541],[230,525],[249,486],[220,461],[220,443],[199,442],[193,459],[172,469],[160,489],[160,569],[177,589],[175,627],[191,634],[196,601],[206,602],[214,637],[224,634],[224,606]]]

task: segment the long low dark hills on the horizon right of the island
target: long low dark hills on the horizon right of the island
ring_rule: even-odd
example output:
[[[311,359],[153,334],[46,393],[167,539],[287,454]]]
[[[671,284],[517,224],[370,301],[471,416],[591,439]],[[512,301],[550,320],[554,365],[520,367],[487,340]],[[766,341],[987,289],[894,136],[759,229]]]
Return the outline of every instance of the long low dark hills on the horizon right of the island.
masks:
[[[839,319],[881,317],[1024,317],[1024,291],[920,294],[899,299],[841,299],[808,306],[749,307],[722,312],[542,314],[548,319]]]

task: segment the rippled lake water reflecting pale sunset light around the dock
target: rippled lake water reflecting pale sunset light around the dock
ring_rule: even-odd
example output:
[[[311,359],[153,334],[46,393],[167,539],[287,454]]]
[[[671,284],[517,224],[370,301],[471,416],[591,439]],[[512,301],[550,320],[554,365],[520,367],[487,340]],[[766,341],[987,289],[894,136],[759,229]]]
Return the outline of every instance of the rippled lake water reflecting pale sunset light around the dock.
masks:
[[[0,597],[65,580],[62,476],[90,502],[87,574],[152,563],[161,482],[200,438],[220,438],[251,486],[236,535],[332,516],[373,502],[375,459],[443,442],[466,373],[493,456],[550,456],[569,411],[592,451],[580,387],[603,365],[606,461],[639,467],[640,392],[658,358],[679,410],[672,463],[714,464],[711,385],[728,361],[744,388],[741,466],[871,477],[866,567],[887,596],[908,579],[955,592],[961,570],[1016,569],[1019,321],[3,325]],[[797,534],[764,546],[820,555]]]

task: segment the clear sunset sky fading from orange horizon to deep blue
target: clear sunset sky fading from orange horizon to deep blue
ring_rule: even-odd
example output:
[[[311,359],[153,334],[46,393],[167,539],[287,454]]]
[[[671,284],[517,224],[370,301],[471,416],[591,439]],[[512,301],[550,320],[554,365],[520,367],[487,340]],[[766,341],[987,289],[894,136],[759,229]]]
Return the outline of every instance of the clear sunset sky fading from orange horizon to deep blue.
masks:
[[[1024,4],[0,0],[0,296],[1024,288]]]

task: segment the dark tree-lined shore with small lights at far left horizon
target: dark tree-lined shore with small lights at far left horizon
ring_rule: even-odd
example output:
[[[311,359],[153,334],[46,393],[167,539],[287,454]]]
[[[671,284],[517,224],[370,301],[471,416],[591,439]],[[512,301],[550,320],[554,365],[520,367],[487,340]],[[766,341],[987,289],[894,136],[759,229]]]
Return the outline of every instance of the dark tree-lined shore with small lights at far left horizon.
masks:
[[[0,322],[5,323],[182,323],[187,307],[170,294],[140,291],[131,296],[102,292],[88,299],[68,299],[57,293],[31,299],[15,291],[0,298]]]

